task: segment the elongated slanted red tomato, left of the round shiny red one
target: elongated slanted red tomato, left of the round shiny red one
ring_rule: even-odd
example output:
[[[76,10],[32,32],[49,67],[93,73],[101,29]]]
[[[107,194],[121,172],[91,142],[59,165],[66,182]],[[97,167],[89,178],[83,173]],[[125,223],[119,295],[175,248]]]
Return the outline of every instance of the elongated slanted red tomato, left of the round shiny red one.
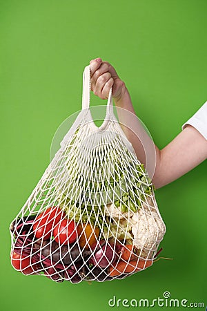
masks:
[[[60,222],[65,214],[59,207],[49,207],[34,220],[33,230],[36,238],[47,240],[52,235],[52,227]]]

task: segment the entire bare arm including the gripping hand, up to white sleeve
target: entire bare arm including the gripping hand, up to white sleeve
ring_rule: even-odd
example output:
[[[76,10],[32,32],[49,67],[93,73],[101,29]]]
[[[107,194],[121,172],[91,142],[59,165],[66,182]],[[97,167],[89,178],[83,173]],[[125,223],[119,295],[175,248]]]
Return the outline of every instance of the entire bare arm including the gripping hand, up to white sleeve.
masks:
[[[186,126],[160,151],[137,118],[128,90],[115,68],[98,58],[90,62],[90,70],[95,95],[106,99],[112,88],[122,129],[156,188],[167,185],[206,159],[207,140],[193,126]]]

